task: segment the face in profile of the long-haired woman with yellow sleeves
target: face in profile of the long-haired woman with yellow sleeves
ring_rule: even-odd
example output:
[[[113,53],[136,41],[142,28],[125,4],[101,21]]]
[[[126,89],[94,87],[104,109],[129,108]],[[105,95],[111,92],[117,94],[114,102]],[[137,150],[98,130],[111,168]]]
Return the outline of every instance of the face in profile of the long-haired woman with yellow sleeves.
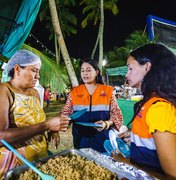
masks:
[[[128,72],[126,78],[130,87],[139,88],[143,81],[144,76],[150,70],[149,63],[140,65],[132,56],[127,59]]]

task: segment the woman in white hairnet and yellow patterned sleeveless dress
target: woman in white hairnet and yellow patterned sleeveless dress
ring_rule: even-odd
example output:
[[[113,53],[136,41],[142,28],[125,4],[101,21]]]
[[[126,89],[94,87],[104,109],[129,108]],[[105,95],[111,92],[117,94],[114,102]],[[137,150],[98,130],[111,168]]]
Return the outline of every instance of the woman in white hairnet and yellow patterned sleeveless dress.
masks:
[[[0,83],[0,139],[8,143],[29,161],[48,155],[45,131],[66,131],[70,118],[47,119],[34,88],[39,80],[41,60],[27,50],[17,51],[8,61],[10,81]],[[23,163],[0,142],[0,179]]]

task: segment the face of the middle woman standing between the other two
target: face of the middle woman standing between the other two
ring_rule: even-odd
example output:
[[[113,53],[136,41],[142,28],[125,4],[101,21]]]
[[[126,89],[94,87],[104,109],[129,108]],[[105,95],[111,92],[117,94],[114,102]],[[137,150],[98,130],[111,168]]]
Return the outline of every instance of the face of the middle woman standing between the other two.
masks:
[[[96,71],[89,63],[84,62],[81,66],[81,78],[85,84],[96,82],[98,70]]]

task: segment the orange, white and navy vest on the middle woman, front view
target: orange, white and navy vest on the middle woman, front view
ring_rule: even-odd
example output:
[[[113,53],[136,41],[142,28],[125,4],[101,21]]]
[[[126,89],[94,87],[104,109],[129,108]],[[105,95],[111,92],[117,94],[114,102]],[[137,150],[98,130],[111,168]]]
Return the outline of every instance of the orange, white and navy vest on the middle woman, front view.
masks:
[[[73,111],[87,108],[87,112],[76,121],[95,122],[110,118],[110,103],[113,87],[99,84],[94,93],[90,95],[84,84],[71,91]],[[75,121],[74,121],[75,122]],[[103,143],[108,139],[109,130],[97,131],[93,127],[78,125],[73,122],[73,141],[75,148],[93,148],[105,152]]]

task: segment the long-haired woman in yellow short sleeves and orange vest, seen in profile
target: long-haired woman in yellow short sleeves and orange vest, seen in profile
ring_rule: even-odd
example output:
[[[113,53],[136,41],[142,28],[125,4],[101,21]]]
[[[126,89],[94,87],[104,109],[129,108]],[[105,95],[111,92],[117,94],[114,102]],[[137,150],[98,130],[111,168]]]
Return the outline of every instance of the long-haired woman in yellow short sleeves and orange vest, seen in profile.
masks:
[[[132,119],[131,162],[176,179],[176,56],[146,44],[130,53],[127,66],[129,86],[143,95]]]

